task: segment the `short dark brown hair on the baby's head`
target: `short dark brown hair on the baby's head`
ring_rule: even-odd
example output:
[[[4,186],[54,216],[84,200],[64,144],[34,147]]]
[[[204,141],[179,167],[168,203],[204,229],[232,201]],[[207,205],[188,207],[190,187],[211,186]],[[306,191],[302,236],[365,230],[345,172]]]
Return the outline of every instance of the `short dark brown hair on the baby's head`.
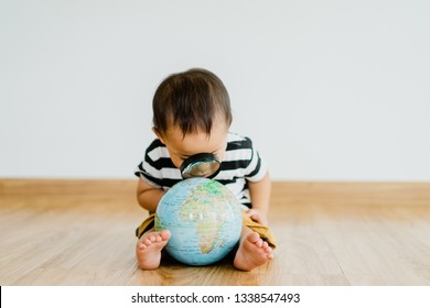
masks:
[[[230,100],[223,81],[212,72],[193,68],[172,74],[158,87],[153,100],[153,125],[160,133],[179,127],[189,133],[211,134],[213,120],[224,117],[233,121]]]

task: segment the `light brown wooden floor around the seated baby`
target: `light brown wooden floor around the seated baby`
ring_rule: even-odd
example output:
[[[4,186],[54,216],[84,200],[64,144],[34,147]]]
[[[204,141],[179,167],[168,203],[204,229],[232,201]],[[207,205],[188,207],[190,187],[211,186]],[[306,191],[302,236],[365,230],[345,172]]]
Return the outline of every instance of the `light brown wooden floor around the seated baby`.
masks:
[[[0,179],[0,285],[430,285],[430,184],[273,183],[276,258],[140,271],[133,180]]]

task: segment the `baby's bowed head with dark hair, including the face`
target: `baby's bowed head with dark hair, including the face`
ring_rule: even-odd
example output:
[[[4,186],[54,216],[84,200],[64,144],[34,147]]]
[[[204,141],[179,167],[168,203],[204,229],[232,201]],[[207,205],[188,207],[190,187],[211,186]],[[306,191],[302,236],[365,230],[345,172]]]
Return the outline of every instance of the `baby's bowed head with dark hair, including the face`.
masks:
[[[197,153],[223,160],[232,110],[223,81],[205,69],[190,69],[165,78],[152,101],[153,131],[165,144],[173,164]]]

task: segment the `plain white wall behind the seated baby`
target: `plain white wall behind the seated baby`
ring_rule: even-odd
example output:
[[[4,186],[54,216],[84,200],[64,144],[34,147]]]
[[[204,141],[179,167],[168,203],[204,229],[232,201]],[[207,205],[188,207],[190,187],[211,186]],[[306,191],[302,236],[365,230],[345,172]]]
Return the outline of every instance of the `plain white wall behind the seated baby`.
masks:
[[[0,177],[133,178],[205,67],[275,179],[430,180],[430,2],[0,1]]]

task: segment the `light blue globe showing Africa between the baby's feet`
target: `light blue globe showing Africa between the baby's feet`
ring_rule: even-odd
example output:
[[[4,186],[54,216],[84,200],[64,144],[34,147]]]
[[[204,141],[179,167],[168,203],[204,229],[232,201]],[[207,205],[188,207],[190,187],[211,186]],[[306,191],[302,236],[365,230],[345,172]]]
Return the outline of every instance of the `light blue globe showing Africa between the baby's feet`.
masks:
[[[241,232],[240,205],[224,185],[207,178],[189,178],[161,198],[155,230],[169,229],[165,251],[189,265],[213,264],[237,244]]]

